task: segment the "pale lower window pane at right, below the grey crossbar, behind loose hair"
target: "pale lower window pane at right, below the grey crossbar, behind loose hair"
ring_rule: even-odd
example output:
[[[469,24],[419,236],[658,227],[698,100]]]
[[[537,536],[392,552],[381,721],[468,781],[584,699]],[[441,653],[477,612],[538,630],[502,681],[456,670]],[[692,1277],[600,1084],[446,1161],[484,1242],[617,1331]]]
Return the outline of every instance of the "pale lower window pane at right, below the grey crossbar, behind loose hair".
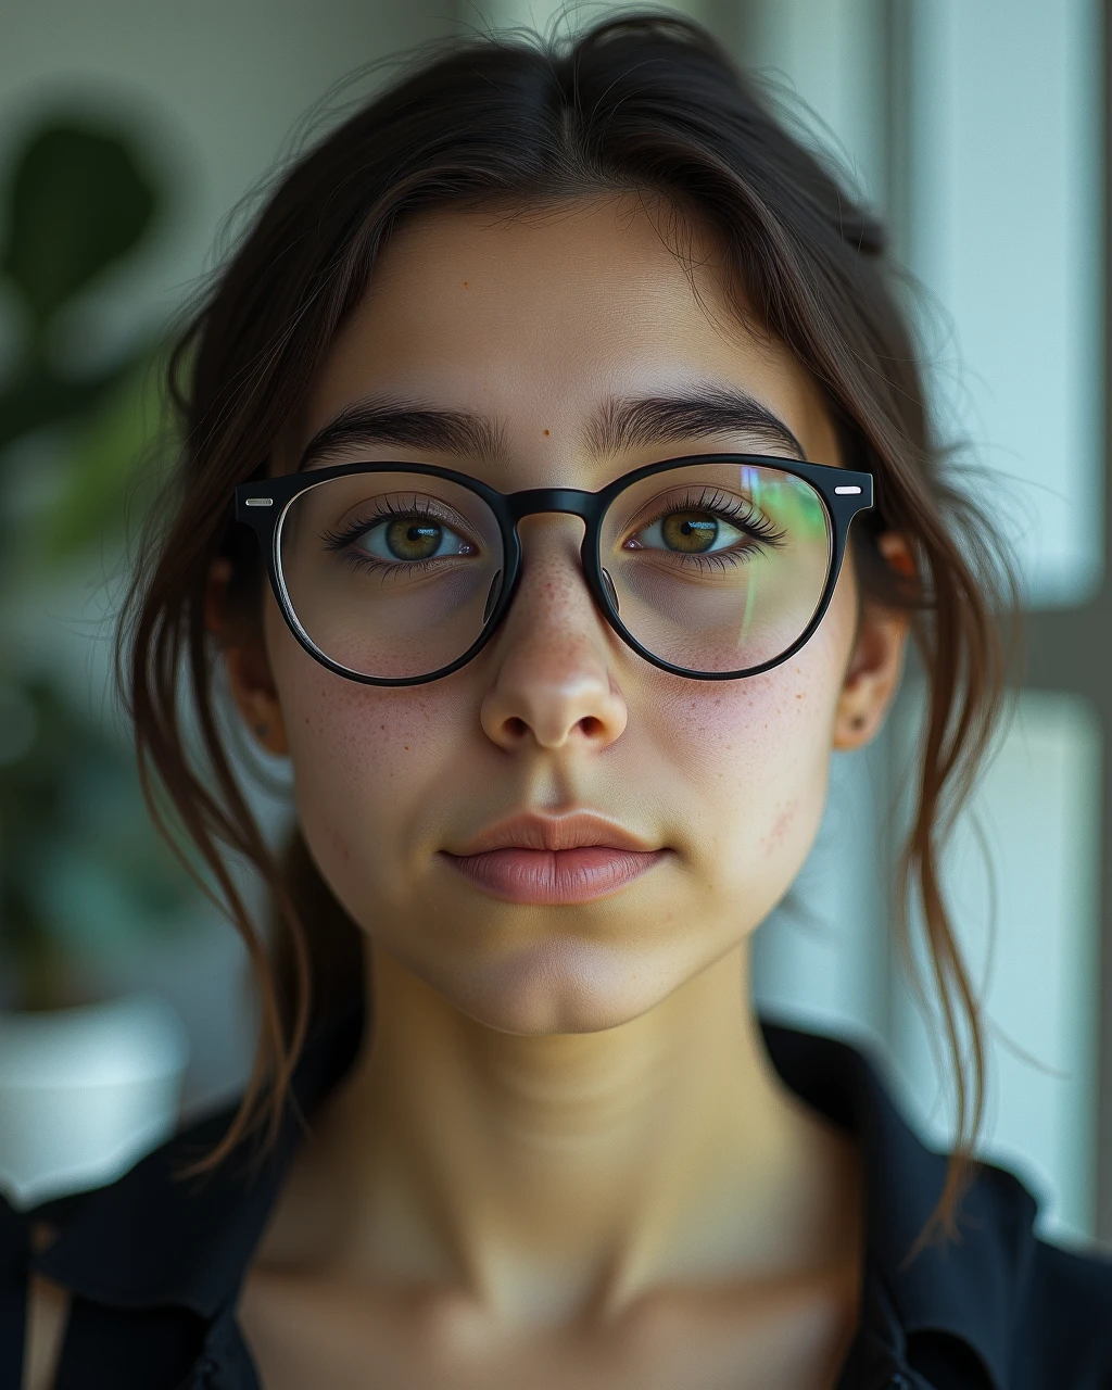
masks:
[[[1074,695],[1023,692],[947,856],[945,891],[983,994],[988,1086],[981,1152],[1044,1201],[1045,1230],[1088,1240],[1097,1200],[1101,728]],[[891,1041],[909,1108],[952,1140],[948,1062],[899,977]]]

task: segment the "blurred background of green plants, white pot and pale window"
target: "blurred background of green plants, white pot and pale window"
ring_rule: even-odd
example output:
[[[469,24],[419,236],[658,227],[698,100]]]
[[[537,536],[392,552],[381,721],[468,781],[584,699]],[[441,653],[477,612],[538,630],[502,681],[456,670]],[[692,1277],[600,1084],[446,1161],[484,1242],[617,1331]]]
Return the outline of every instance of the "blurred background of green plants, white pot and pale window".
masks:
[[[584,3],[570,22],[616,8]],[[947,858],[990,1019],[981,1150],[1036,1191],[1044,1230],[1112,1248],[1105,7],[676,8],[759,72],[887,218],[935,406],[1016,548],[1027,662]],[[111,1177],[235,1093],[250,1061],[235,933],[154,834],[110,684],[126,537],[161,467],[156,339],[260,181],[335,120],[321,104],[334,83],[438,35],[545,31],[556,10],[7,0],[0,1193],[17,1204]],[[891,933],[917,710],[910,670],[884,737],[835,755],[815,852],[758,934],[756,995],[771,1017],[876,1044],[944,1144],[945,1058]],[[278,785],[256,780],[253,796],[272,827],[288,808],[268,771]]]

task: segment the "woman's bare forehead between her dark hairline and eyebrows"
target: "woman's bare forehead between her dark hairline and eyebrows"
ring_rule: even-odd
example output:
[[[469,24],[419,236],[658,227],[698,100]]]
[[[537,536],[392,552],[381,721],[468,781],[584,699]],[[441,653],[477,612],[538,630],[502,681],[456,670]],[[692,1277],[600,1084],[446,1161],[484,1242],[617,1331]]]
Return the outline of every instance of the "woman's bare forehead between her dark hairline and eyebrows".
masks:
[[[414,217],[317,373],[297,445],[368,395],[417,399],[495,420],[507,456],[539,467],[513,480],[530,485],[582,461],[600,400],[720,382],[780,416],[808,457],[837,461],[809,374],[730,303],[708,238],[682,238],[677,257],[673,221],[630,195]],[[645,457],[632,450],[621,466]]]

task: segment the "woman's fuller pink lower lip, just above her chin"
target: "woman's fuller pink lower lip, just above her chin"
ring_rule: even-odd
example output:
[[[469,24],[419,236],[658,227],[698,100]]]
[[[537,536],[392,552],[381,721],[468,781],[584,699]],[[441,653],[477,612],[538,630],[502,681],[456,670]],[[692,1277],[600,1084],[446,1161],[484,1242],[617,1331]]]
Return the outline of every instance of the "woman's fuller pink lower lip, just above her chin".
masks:
[[[617,892],[648,873],[667,853],[639,853],[609,845],[580,849],[492,849],[485,855],[445,855],[477,888],[506,902],[573,905]]]

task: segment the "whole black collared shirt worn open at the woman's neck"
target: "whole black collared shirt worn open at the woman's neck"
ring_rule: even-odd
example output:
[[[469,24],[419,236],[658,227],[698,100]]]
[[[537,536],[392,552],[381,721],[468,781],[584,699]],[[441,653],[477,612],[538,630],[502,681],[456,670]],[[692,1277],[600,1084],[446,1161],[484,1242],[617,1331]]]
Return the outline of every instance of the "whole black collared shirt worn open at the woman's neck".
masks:
[[[912,1133],[862,1054],[762,1029],[784,1081],[856,1136],[865,1163],[862,1315],[837,1390],[1112,1387],[1112,1262],[1037,1240],[1031,1195],[986,1165],[962,1204],[960,1241],[906,1264],[945,1158]],[[348,1070],[361,1031],[352,1008],[314,1034],[293,1086],[304,1113]],[[239,1154],[206,1180],[175,1179],[231,1115],[190,1126],[96,1191],[24,1213],[0,1198],[0,1390],[19,1390],[32,1268],[72,1293],[57,1390],[257,1390],[235,1307],[302,1130],[291,1109],[261,1166]],[[35,1220],[60,1227],[38,1257]]]

